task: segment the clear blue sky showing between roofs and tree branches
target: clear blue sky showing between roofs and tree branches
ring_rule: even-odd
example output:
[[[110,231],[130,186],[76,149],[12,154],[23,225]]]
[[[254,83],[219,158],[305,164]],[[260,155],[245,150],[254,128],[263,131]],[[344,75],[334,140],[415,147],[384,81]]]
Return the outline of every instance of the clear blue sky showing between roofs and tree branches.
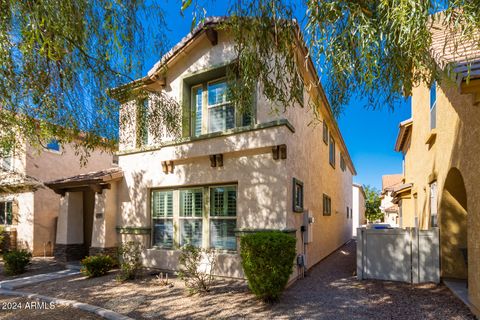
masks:
[[[228,1],[213,1],[207,7],[207,15],[226,15]],[[166,21],[170,45],[176,44],[188,32],[192,22],[191,10],[180,15],[180,1],[168,0]],[[301,17],[304,11],[297,9],[297,16]],[[159,58],[159,57],[158,57]],[[155,59],[158,60],[158,59]],[[147,63],[149,69],[156,62]],[[366,184],[381,189],[383,174],[401,173],[402,155],[393,150],[398,133],[398,124],[410,117],[410,102],[406,101],[395,111],[388,106],[377,110],[364,107],[365,102],[353,98],[345,106],[345,111],[338,117],[345,143],[350,152],[358,175],[354,182]]]

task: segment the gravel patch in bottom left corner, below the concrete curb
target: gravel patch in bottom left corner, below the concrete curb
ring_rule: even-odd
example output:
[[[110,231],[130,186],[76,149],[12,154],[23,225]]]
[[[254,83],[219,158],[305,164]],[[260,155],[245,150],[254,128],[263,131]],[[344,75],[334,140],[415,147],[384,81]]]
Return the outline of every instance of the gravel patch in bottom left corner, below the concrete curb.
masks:
[[[48,308],[48,309],[47,309]],[[0,296],[0,319],[9,320],[96,320],[101,317],[61,305],[42,304],[37,300]]]

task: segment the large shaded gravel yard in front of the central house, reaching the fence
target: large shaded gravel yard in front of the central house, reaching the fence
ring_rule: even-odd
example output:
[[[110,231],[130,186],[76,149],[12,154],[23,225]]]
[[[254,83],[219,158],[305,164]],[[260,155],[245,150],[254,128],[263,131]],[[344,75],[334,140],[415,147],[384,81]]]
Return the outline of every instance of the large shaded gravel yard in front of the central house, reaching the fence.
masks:
[[[221,279],[205,295],[188,296],[179,279],[162,286],[154,276],[119,284],[115,272],[73,276],[27,287],[40,293],[101,306],[136,319],[474,319],[443,285],[357,281],[355,243],[316,265],[287,289],[281,301],[258,301],[245,282]]]

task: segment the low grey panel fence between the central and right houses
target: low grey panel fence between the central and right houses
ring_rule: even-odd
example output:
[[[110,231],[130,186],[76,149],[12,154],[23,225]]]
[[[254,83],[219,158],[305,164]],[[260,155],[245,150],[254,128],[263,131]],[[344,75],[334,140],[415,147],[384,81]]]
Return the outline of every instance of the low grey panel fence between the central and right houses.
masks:
[[[357,278],[439,283],[438,228],[358,228]]]

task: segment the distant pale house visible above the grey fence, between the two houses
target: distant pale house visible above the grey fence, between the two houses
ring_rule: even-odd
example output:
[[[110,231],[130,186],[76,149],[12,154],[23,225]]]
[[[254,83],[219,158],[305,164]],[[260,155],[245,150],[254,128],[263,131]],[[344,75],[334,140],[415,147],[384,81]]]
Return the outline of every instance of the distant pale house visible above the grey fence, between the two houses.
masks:
[[[392,227],[401,227],[398,204],[392,202],[392,193],[395,188],[403,184],[403,174],[386,174],[382,176],[382,203],[380,210],[383,213],[383,222]]]

